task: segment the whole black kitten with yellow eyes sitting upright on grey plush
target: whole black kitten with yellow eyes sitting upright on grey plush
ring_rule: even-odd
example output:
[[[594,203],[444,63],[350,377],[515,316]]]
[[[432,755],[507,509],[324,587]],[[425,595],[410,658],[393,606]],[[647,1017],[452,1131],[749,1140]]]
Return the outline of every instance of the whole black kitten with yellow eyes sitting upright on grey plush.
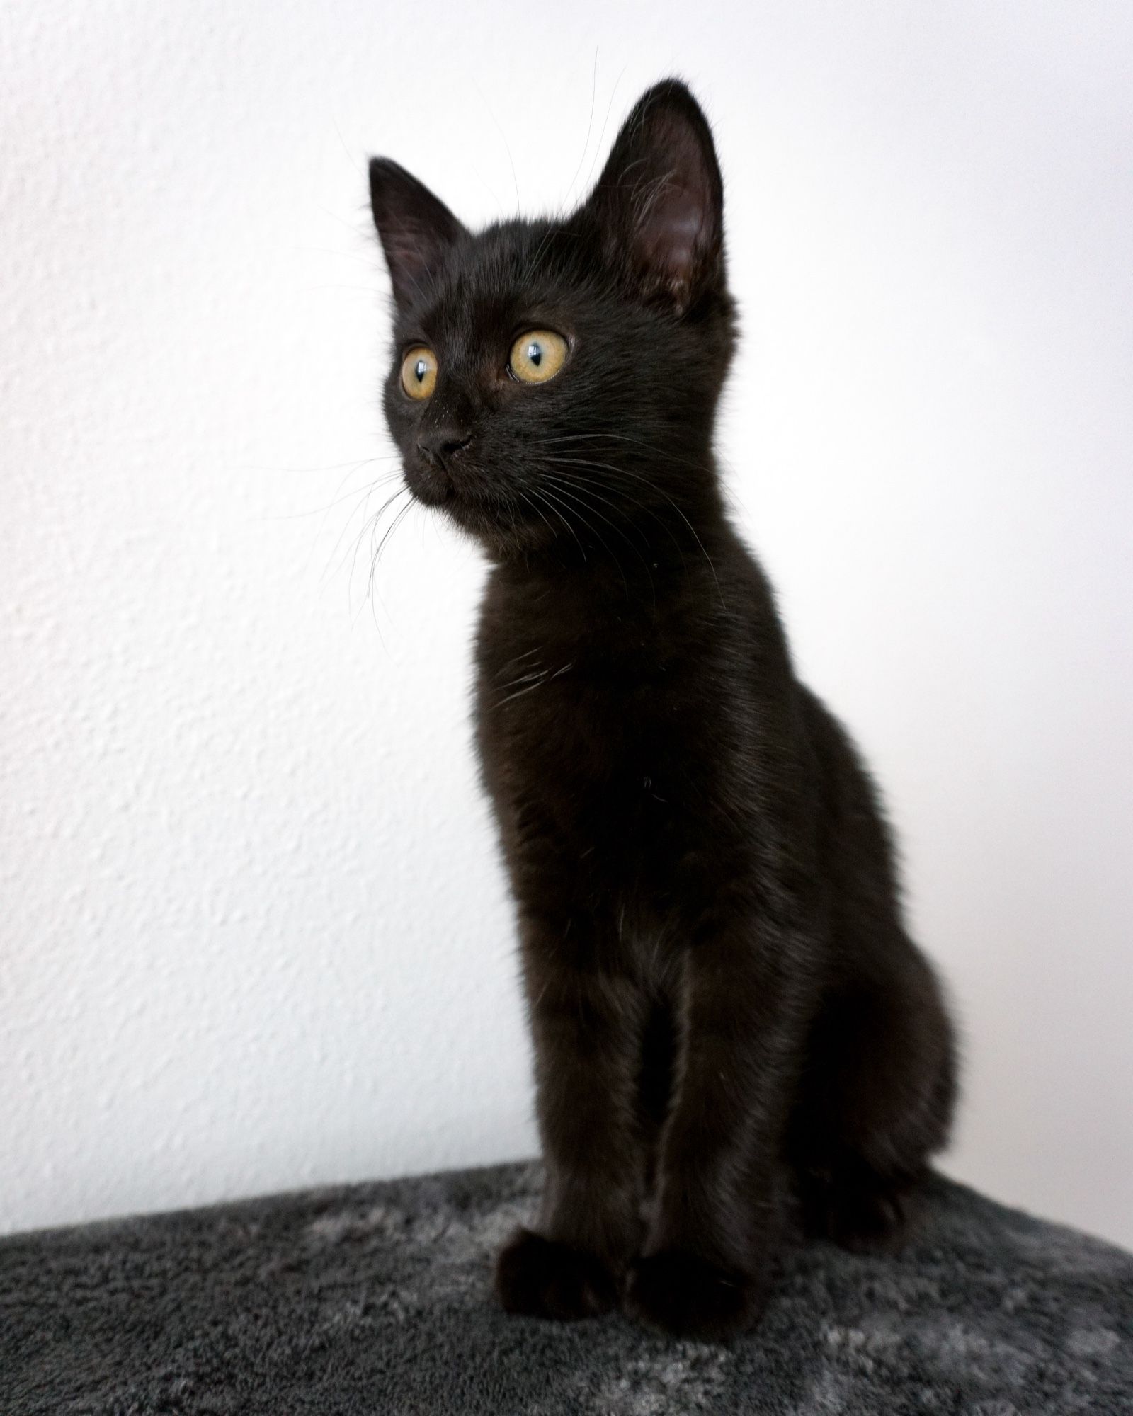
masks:
[[[712,456],[734,343],[722,188],[684,85],[574,215],[470,234],[370,164],[385,412],[493,562],[477,732],[518,908],[547,1167],[504,1307],[727,1335],[786,1218],[892,1240],[955,1096],[846,733],[795,677]]]

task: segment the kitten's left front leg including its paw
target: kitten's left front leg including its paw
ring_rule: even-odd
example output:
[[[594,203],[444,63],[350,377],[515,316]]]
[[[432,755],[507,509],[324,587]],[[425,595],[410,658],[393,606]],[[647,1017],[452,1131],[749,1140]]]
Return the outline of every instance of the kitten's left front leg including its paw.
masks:
[[[592,942],[525,933],[545,1185],[537,1232],[503,1249],[496,1289],[510,1313],[581,1318],[615,1307],[640,1245],[643,1004],[629,977],[595,967]]]

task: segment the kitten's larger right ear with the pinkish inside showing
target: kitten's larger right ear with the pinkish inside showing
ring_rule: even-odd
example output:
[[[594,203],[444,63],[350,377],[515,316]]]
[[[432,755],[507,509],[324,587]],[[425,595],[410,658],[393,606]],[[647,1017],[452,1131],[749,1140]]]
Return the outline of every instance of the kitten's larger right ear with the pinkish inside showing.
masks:
[[[646,299],[683,313],[724,283],[724,184],[708,120],[678,79],[649,89],[583,207]]]

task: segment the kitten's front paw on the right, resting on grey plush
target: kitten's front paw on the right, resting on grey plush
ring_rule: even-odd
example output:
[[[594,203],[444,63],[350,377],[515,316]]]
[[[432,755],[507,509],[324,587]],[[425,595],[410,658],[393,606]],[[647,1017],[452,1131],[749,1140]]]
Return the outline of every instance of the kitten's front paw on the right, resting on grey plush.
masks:
[[[762,1289],[744,1273],[719,1269],[678,1249],[637,1259],[626,1313],[676,1337],[728,1338],[759,1315]]]

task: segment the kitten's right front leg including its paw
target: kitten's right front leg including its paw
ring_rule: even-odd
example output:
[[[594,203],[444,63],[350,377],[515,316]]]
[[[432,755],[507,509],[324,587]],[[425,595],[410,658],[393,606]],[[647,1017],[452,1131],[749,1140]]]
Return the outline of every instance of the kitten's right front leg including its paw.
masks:
[[[667,1331],[727,1337],[762,1308],[783,1219],[806,957],[802,933],[756,922],[688,947],[674,1104],[626,1293],[630,1314]]]

